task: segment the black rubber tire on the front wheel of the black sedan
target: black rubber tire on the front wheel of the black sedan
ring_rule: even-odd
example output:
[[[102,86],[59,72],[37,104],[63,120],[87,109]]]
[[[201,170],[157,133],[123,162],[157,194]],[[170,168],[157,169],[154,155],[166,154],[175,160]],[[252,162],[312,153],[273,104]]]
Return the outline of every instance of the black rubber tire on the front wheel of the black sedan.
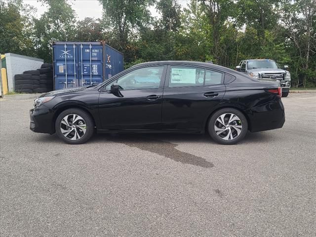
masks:
[[[81,129],[83,127],[72,127],[72,120],[73,120],[73,116],[72,115],[77,115],[79,117],[81,117],[82,119],[75,117],[76,120],[75,125],[79,125],[80,123],[85,124],[85,132],[84,129]],[[68,125],[66,125],[67,122],[62,123],[62,120],[65,119],[67,120]],[[56,133],[58,135],[58,137],[63,140],[64,142],[68,143],[68,144],[82,144],[85,143],[86,141],[88,141],[91,136],[94,133],[94,122],[93,119],[91,118],[91,116],[89,114],[87,114],[86,112],[80,110],[80,109],[67,109],[65,111],[63,111],[56,119],[55,122],[55,129],[56,129]],[[62,130],[63,129],[63,130]],[[74,130],[76,129],[76,130]],[[70,131],[71,132],[68,132]],[[65,132],[67,131],[67,132]],[[77,133],[76,133],[77,132]],[[77,136],[77,134],[79,135],[79,137]],[[71,140],[71,138],[76,138],[76,140]]]

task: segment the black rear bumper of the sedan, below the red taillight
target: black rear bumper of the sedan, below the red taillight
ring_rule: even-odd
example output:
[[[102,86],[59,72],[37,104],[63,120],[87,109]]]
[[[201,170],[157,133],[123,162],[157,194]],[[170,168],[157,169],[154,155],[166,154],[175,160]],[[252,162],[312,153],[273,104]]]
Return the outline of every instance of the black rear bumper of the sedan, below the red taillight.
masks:
[[[284,106],[280,99],[252,109],[250,131],[259,132],[281,128],[285,122]]]

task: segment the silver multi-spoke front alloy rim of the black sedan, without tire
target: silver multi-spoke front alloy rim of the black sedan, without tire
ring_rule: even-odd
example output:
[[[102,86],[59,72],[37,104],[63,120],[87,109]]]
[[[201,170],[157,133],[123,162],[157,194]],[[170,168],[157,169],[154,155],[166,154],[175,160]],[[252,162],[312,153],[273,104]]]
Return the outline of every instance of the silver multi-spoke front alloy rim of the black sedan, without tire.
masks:
[[[60,123],[61,133],[70,140],[80,139],[85,134],[86,128],[84,119],[75,114],[65,116]]]

